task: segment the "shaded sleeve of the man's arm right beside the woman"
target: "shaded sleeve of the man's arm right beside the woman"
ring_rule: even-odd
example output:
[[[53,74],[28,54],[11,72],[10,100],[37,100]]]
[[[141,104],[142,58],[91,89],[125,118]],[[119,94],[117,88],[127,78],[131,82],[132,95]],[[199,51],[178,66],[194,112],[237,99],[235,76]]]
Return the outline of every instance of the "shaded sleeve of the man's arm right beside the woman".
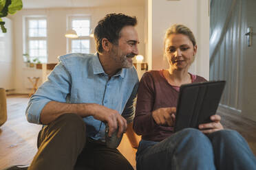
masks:
[[[129,97],[127,104],[125,105],[125,109],[122,112],[122,117],[124,117],[127,120],[127,123],[131,123],[134,120],[137,90],[138,82],[135,84],[131,96]]]

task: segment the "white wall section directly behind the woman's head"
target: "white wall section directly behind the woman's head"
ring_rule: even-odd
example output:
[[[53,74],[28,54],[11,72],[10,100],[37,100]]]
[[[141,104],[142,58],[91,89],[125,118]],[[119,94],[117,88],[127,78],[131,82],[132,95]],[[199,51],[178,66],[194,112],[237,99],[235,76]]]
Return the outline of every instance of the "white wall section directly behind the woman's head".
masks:
[[[191,73],[209,79],[209,1],[206,0],[148,0],[149,3],[149,68],[167,69],[169,64],[163,58],[163,38],[165,30],[180,23],[189,27],[198,42],[198,54]],[[152,43],[150,45],[150,43]],[[152,56],[150,56],[150,52]]]

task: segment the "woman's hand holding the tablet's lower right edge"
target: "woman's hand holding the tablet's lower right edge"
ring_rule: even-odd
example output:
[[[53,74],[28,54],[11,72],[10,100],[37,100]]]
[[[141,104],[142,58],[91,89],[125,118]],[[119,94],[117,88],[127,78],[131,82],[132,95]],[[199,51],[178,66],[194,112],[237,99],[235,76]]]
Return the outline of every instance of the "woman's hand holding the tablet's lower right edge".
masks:
[[[199,130],[201,130],[201,132],[204,134],[211,134],[212,132],[224,129],[222,123],[220,123],[220,115],[215,114],[211,116],[210,119],[213,122],[199,125]]]

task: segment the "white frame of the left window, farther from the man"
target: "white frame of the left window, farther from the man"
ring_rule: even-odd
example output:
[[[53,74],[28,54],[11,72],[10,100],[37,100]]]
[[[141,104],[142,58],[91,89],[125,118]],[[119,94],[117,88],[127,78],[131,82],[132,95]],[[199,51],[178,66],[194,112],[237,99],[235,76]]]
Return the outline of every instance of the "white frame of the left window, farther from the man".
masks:
[[[48,60],[48,43],[47,43],[47,37],[48,37],[48,22],[47,22],[47,16],[25,16],[24,18],[25,20],[25,35],[24,35],[24,39],[25,39],[25,48],[23,49],[24,53],[28,53],[30,55],[30,40],[45,40],[46,42],[46,56],[45,56],[45,59],[46,59],[46,63],[47,63],[47,60]],[[29,21],[30,20],[45,20],[46,21],[46,36],[34,36],[34,37],[30,37],[29,36]],[[31,61],[32,62],[32,61]]]

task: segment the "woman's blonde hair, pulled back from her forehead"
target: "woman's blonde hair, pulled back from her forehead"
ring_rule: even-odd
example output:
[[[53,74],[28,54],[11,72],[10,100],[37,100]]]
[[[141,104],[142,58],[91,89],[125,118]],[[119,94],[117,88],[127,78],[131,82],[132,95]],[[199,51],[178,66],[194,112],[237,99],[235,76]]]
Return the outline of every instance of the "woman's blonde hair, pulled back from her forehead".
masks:
[[[181,25],[181,24],[174,24],[174,25],[171,25],[171,27],[169,27],[167,29],[167,32],[165,32],[164,46],[165,46],[165,41],[171,34],[183,34],[185,36],[188,36],[189,40],[191,40],[191,42],[193,43],[193,46],[196,45],[195,36],[194,36],[193,32],[191,32],[191,29],[189,29],[188,27]]]

